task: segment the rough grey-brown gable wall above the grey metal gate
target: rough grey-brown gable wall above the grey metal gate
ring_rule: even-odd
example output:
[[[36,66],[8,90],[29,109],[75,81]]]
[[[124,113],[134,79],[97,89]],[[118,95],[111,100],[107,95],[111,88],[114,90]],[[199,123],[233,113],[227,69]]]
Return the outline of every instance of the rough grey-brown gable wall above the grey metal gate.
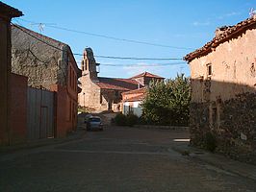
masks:
[[[47,38],[43,39],[48,42]],[[62,47],[58,42],[49,42]],[[67,62],[63,52],[12,27],[12,72],[28,77],[28,85],[49,89],[51,84],[65,84]]]

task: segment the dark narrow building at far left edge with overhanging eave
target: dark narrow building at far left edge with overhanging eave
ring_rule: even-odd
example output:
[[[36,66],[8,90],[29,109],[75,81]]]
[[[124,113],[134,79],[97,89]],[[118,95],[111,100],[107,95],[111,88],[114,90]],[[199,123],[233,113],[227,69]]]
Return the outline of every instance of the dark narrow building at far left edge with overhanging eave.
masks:
[[[11,19],[22,12],[0,2],[0,145],[12,142]]]

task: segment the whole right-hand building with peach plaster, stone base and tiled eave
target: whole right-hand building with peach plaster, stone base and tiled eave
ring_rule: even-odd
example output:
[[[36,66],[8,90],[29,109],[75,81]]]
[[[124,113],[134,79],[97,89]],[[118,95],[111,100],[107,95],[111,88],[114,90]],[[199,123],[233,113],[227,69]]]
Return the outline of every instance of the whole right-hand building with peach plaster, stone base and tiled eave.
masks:
[[[184,59],[191,67],[192,144],[206,132],[217,150],[240,157],[256,152],[256,16],[219,28],[216,36]],[[244,156],[243,156],[244,155]]]

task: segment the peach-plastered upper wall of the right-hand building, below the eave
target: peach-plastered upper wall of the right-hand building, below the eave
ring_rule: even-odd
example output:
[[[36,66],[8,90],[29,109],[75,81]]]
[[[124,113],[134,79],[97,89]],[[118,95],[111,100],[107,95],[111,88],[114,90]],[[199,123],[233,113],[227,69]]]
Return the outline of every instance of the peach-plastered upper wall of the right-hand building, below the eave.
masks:
[[[221,95],[222,100],[228,100],[243,92],[254,92],[256,88],[256,26],[247,30],[241,36],[218,45],[215,51],[194,59],[190,62],[192,80],[207,80],[208,63],[213,65],[211,81],[233,84],[222,87],[211,84],[211,101],[216,101]],[[240,86],[245,84],[246,86]],[[192,82],[192,102],[201,102],[201,85]]]

